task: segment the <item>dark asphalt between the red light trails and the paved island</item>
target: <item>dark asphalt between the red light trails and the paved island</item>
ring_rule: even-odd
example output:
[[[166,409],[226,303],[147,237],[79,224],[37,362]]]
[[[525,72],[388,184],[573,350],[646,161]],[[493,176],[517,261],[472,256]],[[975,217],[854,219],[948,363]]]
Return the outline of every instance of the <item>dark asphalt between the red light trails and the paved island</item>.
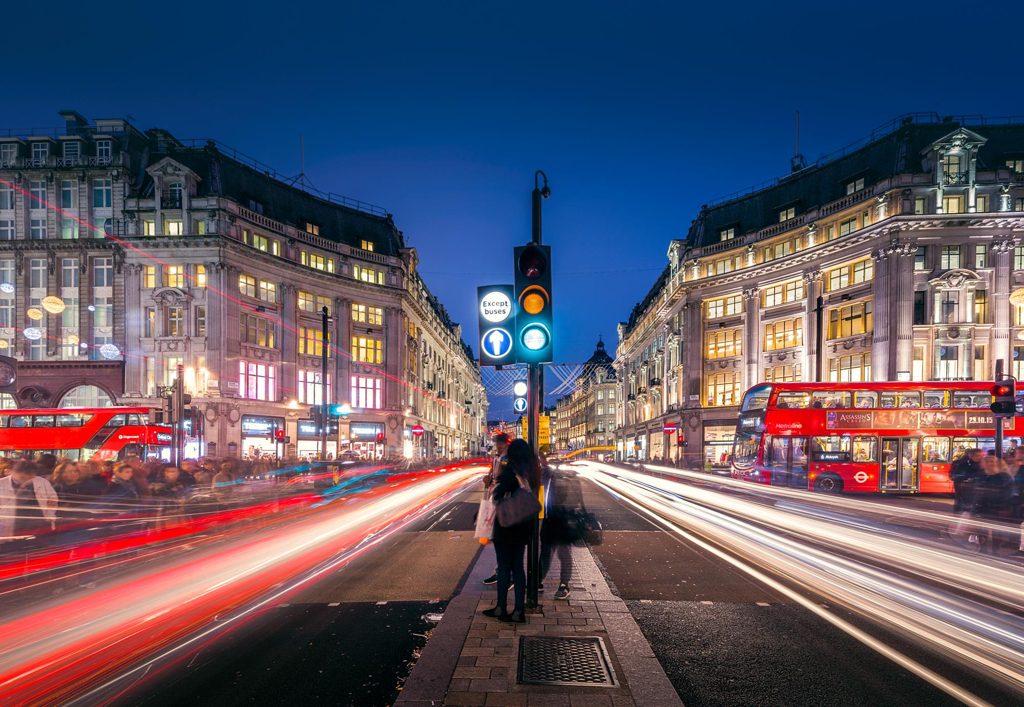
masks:
[[[117,705],[390,705],[479,551],[477,494],[135,682]]]

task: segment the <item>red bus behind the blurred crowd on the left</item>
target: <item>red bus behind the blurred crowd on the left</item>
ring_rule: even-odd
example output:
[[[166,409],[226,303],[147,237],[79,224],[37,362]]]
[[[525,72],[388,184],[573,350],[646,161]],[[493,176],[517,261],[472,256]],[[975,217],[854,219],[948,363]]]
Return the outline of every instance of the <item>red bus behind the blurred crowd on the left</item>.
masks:
[[[0,455],[54,454],[79,461],[169,458],[171,428],[150,424],[148,408],[0,410]]]

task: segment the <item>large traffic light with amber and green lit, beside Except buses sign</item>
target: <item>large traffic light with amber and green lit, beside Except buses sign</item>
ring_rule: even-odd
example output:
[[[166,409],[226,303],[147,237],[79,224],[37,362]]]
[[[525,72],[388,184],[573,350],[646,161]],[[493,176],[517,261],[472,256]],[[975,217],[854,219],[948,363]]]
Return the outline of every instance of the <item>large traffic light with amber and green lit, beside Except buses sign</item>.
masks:
[[[551,247],[530,244],[515,253],[515,352],[521,364],[554,361]]]

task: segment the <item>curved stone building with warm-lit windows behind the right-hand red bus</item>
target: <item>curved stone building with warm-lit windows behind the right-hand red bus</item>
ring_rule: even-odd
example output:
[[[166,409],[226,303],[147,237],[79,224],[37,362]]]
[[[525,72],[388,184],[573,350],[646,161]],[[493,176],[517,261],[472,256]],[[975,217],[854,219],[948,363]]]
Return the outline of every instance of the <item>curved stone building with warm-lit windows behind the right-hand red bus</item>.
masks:
[[[761,381],[1024,376],[1024,120],[913,114],[798,156],[703,206],[668,260],[618,327],[623,458],[728,468]]]

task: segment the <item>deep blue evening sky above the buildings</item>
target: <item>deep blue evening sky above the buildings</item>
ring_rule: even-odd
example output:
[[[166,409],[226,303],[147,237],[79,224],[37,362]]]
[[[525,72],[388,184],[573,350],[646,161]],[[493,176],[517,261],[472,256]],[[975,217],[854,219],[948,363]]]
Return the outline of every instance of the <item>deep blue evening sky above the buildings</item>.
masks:
[[[809,160],[901,113],[1024,113],[1014,3],[132,5],[23,4],[0,123],[130,114],[283,173],[304,133],[313,183],[394,214],[474,346],[544,169],[564,362],[613,352],[701,204],[788,169],[795,111]]]

